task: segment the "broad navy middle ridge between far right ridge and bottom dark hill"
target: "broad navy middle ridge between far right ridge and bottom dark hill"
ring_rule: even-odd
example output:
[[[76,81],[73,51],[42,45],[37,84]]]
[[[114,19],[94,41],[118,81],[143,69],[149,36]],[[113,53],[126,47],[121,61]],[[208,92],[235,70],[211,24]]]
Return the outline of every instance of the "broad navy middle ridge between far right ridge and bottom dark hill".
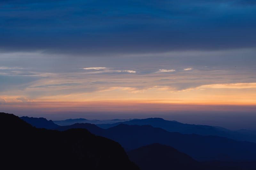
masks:
[[[85,128],[95,135],[112,139],[121,144],[127,151],[145,145],[159,143],[172,146],[199,161],[256,160],[255,143],[235,141],[225,137],[168,132],[150,125],[119,124],[109,129],[99,129],[95,125],[85,123],[82,125],[67,126],[65,129],[74,127]]]

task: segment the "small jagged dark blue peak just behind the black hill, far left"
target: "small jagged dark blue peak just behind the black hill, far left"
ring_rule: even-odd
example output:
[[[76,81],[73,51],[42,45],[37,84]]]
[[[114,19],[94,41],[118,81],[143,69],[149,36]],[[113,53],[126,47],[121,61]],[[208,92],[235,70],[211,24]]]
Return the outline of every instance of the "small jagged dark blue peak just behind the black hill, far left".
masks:
[[[36,117],[28,117],[22,116],[20,119],[24,120],[25,122],[35,126],[36,128],[45,128],[45,129],[54,129],[59,127],[59,125],[52,122],[52,120],[47,120],[43,117],[36,118]]]

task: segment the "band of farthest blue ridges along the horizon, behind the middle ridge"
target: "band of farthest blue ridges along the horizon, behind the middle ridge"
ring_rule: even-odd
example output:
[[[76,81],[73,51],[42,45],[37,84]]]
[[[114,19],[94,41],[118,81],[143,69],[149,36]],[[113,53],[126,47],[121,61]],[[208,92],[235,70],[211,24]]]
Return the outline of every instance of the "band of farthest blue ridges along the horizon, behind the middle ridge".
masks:
[[[195,125],[185,124],[177,121],[168,121],[162,118],[147,118],[147,119],[132,119],[126,121],[125,119],[113,119],[113,120],[88,120],[84,118],[80,119],[66,119],[63,121],[52,121],[45,118],[33,118],[23,116],[20,117],[29,124],[37,128],[54,129],[61,126],[73,125],[75,123],[91,123],[96,124],[98,127],[108,129],[110,127],[117,126],[119,124],[127,125],[151,125],[155,128],[161,128],[169,132],[179,132],[182,134],[197,134],[203,136],[219,136],[227,137],[237,141],[249,141],[256,142],[256,131],[254,130],[229,130],[222,127],[207,126],[207,125]],[[121,122],[120,122],[121,121]],[[112,124],[100,124],[102,122],[115,122]],[[56,124],[57,123],[57,124]]]

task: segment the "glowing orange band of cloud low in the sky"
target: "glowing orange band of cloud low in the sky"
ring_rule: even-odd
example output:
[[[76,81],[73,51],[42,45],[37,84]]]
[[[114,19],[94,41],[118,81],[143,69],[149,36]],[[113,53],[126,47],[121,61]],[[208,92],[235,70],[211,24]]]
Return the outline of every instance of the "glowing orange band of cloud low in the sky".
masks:
[[[229,88],[220,88],[229,87]],[[236,88],[234,88],[236,87]],[[238,88],[237,88],[238,87]],[[245,88],[244,88],[245,87]],[[252,105],[256,104],[256,91],[251,89],[256,88],[256,83],[237,83],[232,85],[202,85],[196,88],[188,88],[186,90],[177,90],[171,86],[110,86],[98,87],[87,92],[78,89],[64,93],[62,91],[49,91],[30,98],[29,96],[1,96],[1,103],[16,103],[16,102],[111,102],[114,100],[125,102],[145,102],[145,103],[177,103],[177,104],[239,104]],[[32,89],[31,89],[32,90]],[[68,90],[68,89],[67,89]],[[65,91],[67,91],[65,90]],[[29,92],[27,92],[29,94]],[[109,108],[111,110],[111,108]]]

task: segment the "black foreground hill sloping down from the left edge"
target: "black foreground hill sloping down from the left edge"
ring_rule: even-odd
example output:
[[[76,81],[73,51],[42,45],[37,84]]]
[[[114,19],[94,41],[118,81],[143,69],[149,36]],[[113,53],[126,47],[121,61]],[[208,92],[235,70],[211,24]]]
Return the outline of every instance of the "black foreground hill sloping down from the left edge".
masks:
[[[13,169],[139,169],[116,142],[85,129],[37,129],[0,113],[1,167]]]

